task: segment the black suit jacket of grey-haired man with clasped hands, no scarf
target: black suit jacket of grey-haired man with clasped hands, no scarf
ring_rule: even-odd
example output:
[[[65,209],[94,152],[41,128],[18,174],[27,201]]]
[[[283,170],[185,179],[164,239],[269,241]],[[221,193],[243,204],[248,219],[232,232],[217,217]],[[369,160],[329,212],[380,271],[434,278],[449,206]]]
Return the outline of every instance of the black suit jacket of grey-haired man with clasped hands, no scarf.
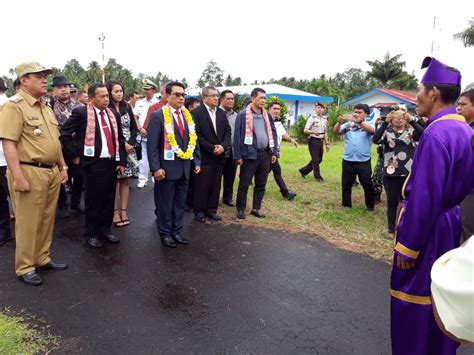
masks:
[[[216,111],[216,129],[211,121],[207,107],[203,104],[192,112],[196,123],[196,132],[199,140],[202,165],[224,165],[225,155],[214,155],[215,145],[222,145],[224,150],[230,149],[231,129],[227,116],[221,108]]]

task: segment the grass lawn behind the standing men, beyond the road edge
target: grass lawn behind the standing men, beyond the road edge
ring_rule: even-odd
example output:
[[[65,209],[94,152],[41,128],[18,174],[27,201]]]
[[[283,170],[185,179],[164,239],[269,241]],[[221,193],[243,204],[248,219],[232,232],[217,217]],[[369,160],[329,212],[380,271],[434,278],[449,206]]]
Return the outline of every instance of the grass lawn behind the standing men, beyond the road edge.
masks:
[[[282,198],[278,186],[269,175],[262,210],[266,218],[258,219],[249,215],[253,188],[250,187],[247,202],[247,218],[238,220],[235,208],[225,205],[221,212],[227,220],[246,225],[276,228],[290,232],[303,232],[320,236],[330,243],[347,250],[366,253],[378,259],[390,260],[393,242],[383,239],[387,233],[386,200],[376,205],[375,213],[368,213],[364,203],[362,187],[352,189],[351,209],[341,205],[341,170],[343,142],[333,143],[329,153],[324,153],[321,164],[323,184],[314,180],[312,174],[302,178],[298,169],[310,160],[308,147],[294,148],[284,142],[280,165],[288,189],[297,193],[293,201]],[[372,166],[376,163],[373,147]],[[238,172],[237,172],[238,174]],[[238,180],[238,178],[236,179]],[[237,191],[234,189],[234,199]]]

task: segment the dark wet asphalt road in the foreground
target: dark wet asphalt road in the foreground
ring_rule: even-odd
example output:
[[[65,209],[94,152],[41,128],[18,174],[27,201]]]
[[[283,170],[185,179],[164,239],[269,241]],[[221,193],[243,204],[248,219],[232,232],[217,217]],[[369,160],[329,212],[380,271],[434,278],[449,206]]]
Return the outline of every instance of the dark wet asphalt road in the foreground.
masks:
[[[53,353],[386,354],[389,265],[305,235],[191,221],[188,246],[161,246],[152,189],[133,189],[119,245],[91,250],[82,217],[57,223],[70,268],[29,287],[0,247],[0,306],[61,336]]]

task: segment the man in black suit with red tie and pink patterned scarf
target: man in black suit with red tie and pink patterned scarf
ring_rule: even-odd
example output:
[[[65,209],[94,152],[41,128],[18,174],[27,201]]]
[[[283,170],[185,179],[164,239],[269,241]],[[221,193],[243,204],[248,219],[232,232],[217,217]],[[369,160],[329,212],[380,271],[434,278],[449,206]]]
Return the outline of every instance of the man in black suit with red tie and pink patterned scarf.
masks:
[[[73,164],[81,164],[85,179],[87,243],[102,247],[101,240],[118,243],[110,230],[114,213],[117,171],[127,164],[120,115],[108,109],[104,84],[89,87],[89,104],[75,108],[61,127],[63,150]]]

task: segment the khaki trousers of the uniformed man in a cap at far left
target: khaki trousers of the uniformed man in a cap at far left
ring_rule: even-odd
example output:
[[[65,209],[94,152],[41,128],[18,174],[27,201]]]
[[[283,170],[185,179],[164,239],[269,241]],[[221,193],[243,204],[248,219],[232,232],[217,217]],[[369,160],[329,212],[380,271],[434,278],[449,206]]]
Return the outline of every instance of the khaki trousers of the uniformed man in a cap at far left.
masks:
[[[21,170],[30,184],[30,192],[15,191],[13,177],[7,171],[8,189],[15,210],[15,269],[18,276],[51,261],[49,250],[61,185],[57,167],[44,169],[21,165]]]

